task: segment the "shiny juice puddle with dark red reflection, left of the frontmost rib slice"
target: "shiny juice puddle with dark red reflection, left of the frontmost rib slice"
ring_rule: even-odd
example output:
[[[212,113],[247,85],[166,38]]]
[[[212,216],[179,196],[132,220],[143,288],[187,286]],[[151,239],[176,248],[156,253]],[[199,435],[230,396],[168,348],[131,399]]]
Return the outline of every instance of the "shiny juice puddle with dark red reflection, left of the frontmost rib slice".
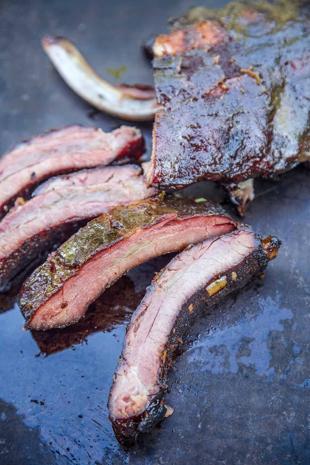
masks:
[[[24,319],[17,304],[0,313],[0,351],[10,354],[0,367],[0,403],[13,405],[16,416],[37,429],[57,456],[101,463],[103,455],[117,454],[127,461],[108,419],[108,393],[126,324],[155,271],[173,255],[121,277],[90,306],[85,319],[65,329],[21,331]]]

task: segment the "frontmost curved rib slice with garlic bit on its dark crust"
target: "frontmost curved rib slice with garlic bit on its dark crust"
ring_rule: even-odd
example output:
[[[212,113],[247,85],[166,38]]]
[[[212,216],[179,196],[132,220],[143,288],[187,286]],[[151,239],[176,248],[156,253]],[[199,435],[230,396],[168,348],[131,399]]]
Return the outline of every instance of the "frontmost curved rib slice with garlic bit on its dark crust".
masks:
[[[147,432],[165,417],[168,370],[191,321],[261,274],[279,245],[278,239],[261,241],[249,226],[239,225],[189,246],[155,276],[127,326],[109,395],[119,440]]]

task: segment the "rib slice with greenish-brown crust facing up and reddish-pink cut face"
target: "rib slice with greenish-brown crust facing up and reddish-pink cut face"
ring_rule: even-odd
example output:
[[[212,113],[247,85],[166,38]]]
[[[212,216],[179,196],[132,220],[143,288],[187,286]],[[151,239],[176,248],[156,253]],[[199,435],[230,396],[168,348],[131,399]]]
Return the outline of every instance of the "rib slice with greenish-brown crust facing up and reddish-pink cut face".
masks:
[[[25,328],[68,326],[139,263],[235,226],[221,207],[208,201],[160,195],[116,207],[81,228],[26,280],[19,297]]]

